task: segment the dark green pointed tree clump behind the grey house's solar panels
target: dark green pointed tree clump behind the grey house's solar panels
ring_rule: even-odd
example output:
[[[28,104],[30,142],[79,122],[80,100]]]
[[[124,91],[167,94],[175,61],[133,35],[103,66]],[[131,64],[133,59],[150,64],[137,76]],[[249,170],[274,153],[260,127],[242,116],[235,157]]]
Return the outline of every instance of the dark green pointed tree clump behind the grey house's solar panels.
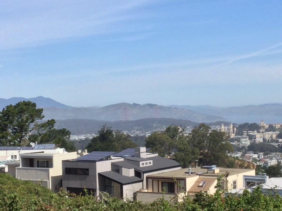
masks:
[[[121,133],[119,130],[115,132],[111,127],[103,125],[98,131],[98,136],[93,137],[86,146],[88,152],[92,151],[122,151],[127,148],[138,147],[137,144],[130,140],[130,135]]]

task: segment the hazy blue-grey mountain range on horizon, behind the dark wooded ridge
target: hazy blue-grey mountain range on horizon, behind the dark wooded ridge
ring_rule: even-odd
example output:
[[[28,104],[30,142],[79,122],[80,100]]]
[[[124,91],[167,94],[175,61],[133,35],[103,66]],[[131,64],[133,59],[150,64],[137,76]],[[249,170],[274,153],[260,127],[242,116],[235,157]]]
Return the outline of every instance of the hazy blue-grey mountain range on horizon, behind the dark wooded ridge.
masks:
[[[193,122],[231,121],[236,123],[257,122],[282,123],[282,104],[247,105],[241,107],[162,106],[156,104],[118,103],[105,107],[70,107],[51,98],[35,97],[0,98],[0,108],[19,101],[30,100],[43,108],[45,119],[92,119],[97,121],[134,121],[148,118],[169,118]]]

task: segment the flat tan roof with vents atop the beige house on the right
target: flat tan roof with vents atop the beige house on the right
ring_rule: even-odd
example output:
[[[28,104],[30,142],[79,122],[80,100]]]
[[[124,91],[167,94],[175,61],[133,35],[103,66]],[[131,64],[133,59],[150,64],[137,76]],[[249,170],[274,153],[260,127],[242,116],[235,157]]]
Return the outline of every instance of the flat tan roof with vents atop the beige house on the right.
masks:
[[[152,174],[150,177],[177,177],[177,178],[189,178],[189,177],[195,177],[199,176],[197,173],[204,173],[201,174],[201,176],[220,176],[222,174],[225,174],[226,172],[229,172],[229,175],[236,175],[244,172],[249,172],[249,171],[254,171],[255,169],[250,169],[250,168],[223,168],[223,167],[218,167],[219,168],[219,173],[213,174],[213,173],[207,173],[206,168],[191,168],[191,172],[195,172],[194,174],[189,175],[189,173],[185,173],[189,171],[189,168],[182,168],[180,170],[176,171],[168,171],[164,173],[158,173],[158,174]],[[149,177],[149,176],[148,176]]]

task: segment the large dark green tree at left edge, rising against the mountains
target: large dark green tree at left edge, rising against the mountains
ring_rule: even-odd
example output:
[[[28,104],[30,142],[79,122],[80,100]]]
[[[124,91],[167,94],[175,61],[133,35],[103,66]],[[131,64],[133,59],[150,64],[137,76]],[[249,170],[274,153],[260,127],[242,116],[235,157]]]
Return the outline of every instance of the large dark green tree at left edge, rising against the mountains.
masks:
[[[66,151],[75,151],[70,131],[54,129],[56,121],[42,121],[42,113],[43,109],[36,108],[36,103],[31,101],[6,106],[0,112],[0,145],[27,146],[37,141],[38,144],[54,143]]]

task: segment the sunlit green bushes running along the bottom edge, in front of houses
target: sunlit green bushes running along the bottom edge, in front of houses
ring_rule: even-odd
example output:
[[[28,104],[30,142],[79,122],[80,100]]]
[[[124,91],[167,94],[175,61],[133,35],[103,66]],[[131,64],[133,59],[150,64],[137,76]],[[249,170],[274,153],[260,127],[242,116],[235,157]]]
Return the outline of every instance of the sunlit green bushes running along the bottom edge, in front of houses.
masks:
[[[249,211],[249,210],[282,210],[279,195],[264,195],[260,188],[253,193],[247,190],[241,196],[229,195],[222,197],[218,190],[214,195],[199,193],[193,200],[184,198],[178,202],[159,199],[152,204],[141,204],[137,201],[120,200],[110,197],[107,193],[97,200],[91,194],[75,196],[60,190],[53,193],[41,185],[28,181],[17,180],[9,175],[0,174],[0,210],[1,211]]]

